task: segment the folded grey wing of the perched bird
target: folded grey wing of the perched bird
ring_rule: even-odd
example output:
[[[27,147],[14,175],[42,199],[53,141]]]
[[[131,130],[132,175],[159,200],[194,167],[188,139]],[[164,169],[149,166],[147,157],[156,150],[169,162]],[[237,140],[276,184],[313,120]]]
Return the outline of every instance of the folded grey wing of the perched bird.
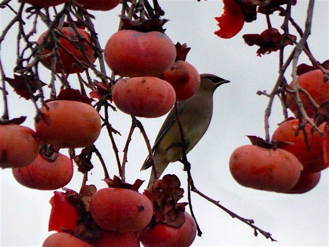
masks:
[[[179,101],[177,103],[177,108],[178,108],[179,115],[181,115],[181,113],[184,111],[185,105],[186,105],[186,100],[182,100],[182,101]],[[163,136],[166,135],[166,133],[169,131],[170,127],[175,122],[175,116],[176,116],[176,112],[175,112],[175,109],[173,108],[168,113],[167,118],[163,122],[163,124],[162,124],[162,126],[159,130],[159,133],[158,133],[157,137],[155,138],[155,142],[154,142],[154,145],[153,145],[153,148],[152,148],[153,153],[154,153],[154,150],[159,145],[160,140],[163,138]],[[144,161],[144,164],[142,165],[142,168],[140,170],[146,170],[151,166],[152,166],[152,164],[151,164],[149,156],[148,156],[146,158],[146,160]]]

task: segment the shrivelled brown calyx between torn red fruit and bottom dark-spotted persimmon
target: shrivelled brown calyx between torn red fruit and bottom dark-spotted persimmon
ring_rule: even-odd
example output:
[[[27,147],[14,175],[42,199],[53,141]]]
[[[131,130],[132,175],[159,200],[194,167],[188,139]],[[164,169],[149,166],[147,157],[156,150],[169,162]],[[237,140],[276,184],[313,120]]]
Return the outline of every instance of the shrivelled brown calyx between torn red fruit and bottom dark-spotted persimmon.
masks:
[[[74,231],[74,236],[92,243],[94,239],[99,238],[101,228],[93,220],[92,215],[89,213],[90,201],[94,193],[96,192],[95,185],[84,185],[81,187],[80,192],[77,193],[74,190],[63,188],[66,192],[66,197],[75,205],[79,212],[79,220]]]

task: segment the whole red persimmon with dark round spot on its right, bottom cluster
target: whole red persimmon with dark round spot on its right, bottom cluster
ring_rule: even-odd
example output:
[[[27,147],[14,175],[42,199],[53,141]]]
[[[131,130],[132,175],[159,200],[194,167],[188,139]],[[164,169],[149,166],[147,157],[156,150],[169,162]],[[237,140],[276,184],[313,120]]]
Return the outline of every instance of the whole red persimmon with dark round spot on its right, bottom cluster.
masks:
[[[126,233],[141,231],[147,226],[153,215],[153,206],[137,191],[103,188],[92,197],[90,213],[104,230]]]

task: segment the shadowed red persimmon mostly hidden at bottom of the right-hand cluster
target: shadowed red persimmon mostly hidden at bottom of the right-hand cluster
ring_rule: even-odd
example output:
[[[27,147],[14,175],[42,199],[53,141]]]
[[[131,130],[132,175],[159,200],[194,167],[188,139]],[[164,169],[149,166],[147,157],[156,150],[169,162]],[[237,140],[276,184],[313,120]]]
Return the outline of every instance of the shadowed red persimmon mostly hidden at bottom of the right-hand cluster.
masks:
[[[300,174],[300,178],[297,184],[287,191],[289,194],[301,194],[313,189],[320,181],[321,171],[314,173],[304,173]]]

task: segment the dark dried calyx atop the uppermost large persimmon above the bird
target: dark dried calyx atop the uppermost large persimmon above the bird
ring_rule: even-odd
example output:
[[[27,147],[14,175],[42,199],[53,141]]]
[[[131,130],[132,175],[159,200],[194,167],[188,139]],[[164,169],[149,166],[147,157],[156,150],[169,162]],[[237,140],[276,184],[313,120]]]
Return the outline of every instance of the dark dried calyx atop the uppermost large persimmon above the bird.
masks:
[[[166,29],[163,29],[163,25],[169,20],[167,19],[151,19],[151,20],[130,20],[126,16],[120,15],[122,22],[122,29],[135,30],[139,32],[151,32],[158,31],[165,33]]]

